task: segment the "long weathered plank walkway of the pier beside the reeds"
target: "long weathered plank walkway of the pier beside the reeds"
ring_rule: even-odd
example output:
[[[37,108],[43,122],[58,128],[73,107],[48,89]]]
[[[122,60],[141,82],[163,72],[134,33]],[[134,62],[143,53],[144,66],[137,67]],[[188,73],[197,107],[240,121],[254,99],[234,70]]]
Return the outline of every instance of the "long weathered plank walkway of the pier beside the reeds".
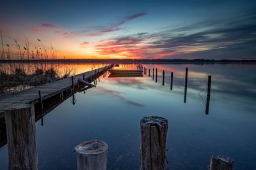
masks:
[[[98,74],[103,73],[108,70],[113,65],[101,67],[99,69],[93,69],[92,71],[87,71],[85,73],[77,74],[74,76],[74,87],[76,87],[81,80],[92,81],[93,78],[97,77]],[[36,86],[30,89],[22,90],[20,92],[14,92],[12,94],[6,94],[0,96],[0,118],[4,117],[4,110],[11,107],[13,104],[36,104],[40,102],[40,97],[38,96],[38,91],[40,90],[41,97],[43,100],[49,99],[52,96],[61,94],[66,90],[72,89],[72,78],[65,78],[62,80],[54,81],[52,83],[47,83],[44,85]]]

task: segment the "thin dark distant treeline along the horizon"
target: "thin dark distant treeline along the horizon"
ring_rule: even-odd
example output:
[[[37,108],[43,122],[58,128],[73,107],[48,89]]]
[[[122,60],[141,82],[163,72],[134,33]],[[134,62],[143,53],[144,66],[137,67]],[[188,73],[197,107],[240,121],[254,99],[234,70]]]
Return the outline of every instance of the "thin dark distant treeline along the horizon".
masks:
[[[60,62],[60,63],[102,63],[102,62],[107,62],[107,63],[197,63],[197,62],[204,62],[204,63],[230,63],[230,62],[241,62],[241,63],[256,63],[256,60],[205,60],[205,59],[48,59],[48,60],[0,60],[0,62],[8,63],[8,62]]]

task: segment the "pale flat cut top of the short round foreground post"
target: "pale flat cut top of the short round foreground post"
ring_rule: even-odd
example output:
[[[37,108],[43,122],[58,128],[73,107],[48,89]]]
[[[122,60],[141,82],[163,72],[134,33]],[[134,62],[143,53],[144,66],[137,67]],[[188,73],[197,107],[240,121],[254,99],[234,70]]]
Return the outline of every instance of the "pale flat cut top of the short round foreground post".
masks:
[[[106,152],[108,145],[104,141],[92,140],[81,143],[75,147],[75,151],[83,155],[93,155]]]

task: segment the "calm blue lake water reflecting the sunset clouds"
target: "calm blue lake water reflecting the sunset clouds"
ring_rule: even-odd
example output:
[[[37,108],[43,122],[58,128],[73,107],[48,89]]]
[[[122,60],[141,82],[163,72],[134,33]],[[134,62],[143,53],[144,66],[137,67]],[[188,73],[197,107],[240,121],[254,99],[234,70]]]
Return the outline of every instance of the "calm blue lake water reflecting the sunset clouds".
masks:
[[[140,169],[140,120],[151,115],[168,119],[170,169],[207,169],[212,155],[234,159],[234,169],[255,169],[255,64],[143,66],[151,71],[157,67],[157,83],[152,72],[143,77],[101,76],[96,88],[75,94],[75,105],[68,98],[45,115],[43,126],[36,122],[38,169],[76,169],[74,147],[92,139],[108,144],[108,169]],[[79,64],[77,73],[90,69],[90,64]],[[211,99],[205,115],[208,75],[212,76]],[[7,145],[0,148],[0,169],[8,169]]]

